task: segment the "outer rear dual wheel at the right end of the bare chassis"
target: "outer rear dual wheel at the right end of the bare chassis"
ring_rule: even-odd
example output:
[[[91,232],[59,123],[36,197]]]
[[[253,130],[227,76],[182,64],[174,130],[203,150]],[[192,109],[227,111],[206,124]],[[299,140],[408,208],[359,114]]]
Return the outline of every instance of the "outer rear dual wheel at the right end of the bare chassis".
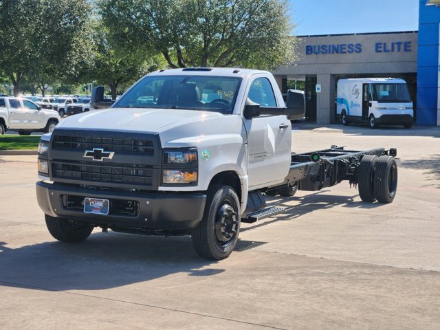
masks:
[[[374,193],[380,203],[391,203],[397,191],[397,164],[394,157],[380,156],[374,171]]]

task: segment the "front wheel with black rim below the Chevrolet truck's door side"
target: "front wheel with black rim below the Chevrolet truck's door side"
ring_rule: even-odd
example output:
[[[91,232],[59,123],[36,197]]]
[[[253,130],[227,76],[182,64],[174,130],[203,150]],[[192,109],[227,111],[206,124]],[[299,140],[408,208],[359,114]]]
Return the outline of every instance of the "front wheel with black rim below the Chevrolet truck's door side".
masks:
[[[227,258],[240,232],[240,201],[230,186],[216,184],[208,189],[201,223],[192,230],[192,246],[206,259]]]

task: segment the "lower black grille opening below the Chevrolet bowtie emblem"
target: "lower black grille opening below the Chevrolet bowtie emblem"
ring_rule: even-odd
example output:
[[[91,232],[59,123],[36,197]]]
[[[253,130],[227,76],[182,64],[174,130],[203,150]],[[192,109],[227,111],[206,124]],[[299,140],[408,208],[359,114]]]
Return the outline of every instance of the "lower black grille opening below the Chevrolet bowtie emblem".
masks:
[[[138,164],[74,163],[61,159],[52,162],[52,177],[57,179],[152,186],[154,172],[151,166]]]

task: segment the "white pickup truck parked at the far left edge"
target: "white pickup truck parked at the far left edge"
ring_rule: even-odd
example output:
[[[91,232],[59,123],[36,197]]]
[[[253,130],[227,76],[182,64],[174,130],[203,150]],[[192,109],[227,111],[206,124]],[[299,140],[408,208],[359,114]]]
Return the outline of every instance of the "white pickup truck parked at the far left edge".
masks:
[[[31,100],[0,97],[0,135],[8,130],[18,131],[20,135],[50,133],[60,119],[57,111],[42,109]]]

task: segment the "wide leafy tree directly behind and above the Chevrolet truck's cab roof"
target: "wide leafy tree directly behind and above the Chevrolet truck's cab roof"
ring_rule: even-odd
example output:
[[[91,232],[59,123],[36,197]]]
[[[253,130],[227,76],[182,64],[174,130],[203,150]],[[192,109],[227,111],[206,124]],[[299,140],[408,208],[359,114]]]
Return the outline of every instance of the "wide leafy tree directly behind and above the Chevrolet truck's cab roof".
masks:
[[[120,47],[163,54],[170,67],[273,68],[296,60],[286,0],[101,0]]]

